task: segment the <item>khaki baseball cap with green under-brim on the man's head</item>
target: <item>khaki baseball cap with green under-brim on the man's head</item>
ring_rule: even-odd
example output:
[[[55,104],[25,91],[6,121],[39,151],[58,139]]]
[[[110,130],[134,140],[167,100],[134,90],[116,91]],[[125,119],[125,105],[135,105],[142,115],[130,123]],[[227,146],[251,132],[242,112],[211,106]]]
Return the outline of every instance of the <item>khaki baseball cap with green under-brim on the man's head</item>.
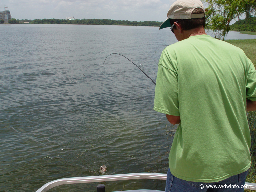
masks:
[[[203,3],[200,0],[177,0],[167,13],[167,19],[160,25],[159,29],[171,27],[170,19],[198,19],[205,17],[205,13],[192,14],[195,8],[202,8]]]

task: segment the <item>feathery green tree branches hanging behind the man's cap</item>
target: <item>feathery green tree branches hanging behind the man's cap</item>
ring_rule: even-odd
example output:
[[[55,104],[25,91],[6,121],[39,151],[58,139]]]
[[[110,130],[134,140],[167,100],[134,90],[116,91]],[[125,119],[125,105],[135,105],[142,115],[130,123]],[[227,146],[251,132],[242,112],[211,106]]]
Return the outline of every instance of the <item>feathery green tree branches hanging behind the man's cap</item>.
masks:
[[[224,40],[230,31],[230,21],[246,18],[256,10],[256,0],[204,0],[208,4],[205,9],[207,28],[213,30],[215,37]]]

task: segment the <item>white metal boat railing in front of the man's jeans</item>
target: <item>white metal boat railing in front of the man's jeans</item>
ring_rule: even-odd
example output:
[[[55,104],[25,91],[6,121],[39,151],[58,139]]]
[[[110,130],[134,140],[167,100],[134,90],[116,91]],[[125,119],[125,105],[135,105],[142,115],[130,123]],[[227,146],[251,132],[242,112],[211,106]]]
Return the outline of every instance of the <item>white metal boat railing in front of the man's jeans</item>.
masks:
[[[64,184],[77,184],[77,183],[93,183],[93,182],[105,182],[105,181],[121,181],[131,179],[159,179],[166,180],[166,174],[162,173],[128,173],[117,175],[101,175],[101,176],[88,176],[88,177],[72,177],[65,179],[57,179],[46,183],[36,192],[46,192],[53,187]],[[245,183],[244,189],[250,189],[256,191],[255,183]],[[139,191],[139,190],[138,190]],[[148,190],[151,191],[151,190]]]

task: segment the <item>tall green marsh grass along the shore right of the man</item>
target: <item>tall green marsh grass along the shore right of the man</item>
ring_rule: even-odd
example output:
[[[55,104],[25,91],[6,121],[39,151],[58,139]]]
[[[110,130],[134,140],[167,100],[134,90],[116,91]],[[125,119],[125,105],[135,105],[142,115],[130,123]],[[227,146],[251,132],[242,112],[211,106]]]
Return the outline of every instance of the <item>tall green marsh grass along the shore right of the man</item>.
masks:
[[[226,40],[239,48],[241,48],[246,56],[253,62],[254,67],[256,66],[256,39],[245,39],[245,40]],[[256,111],[248,112],[247,119],[249,123],[251,133],[251,160],[252,165],[249,169],[246,177],[246,182],[256,183]],[[253,192],[252,190],[244,190],[246,192]]]

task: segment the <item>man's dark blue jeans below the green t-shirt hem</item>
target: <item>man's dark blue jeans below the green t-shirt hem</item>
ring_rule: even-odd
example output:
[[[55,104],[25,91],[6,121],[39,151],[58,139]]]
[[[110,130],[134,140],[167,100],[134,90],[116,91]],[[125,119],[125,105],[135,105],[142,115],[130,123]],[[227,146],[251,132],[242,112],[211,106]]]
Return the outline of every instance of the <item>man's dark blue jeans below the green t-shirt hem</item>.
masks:
[[[215,183],[190,182],[173,176],[168,169],[165,192],[244,192],[248,170]]]

